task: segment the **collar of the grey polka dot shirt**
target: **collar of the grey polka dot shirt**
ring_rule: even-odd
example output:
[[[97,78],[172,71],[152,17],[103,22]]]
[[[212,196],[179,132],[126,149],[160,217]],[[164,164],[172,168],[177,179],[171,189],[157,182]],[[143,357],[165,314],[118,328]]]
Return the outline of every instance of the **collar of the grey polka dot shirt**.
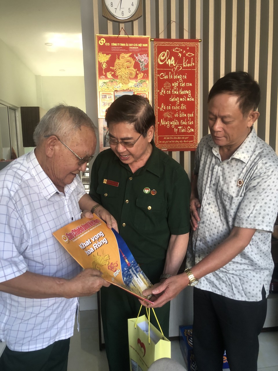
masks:
[[[212,138],[209,140],[208,144],[212,147],[212,152],[220,158],[219,155],[219,145],[216,145]],[[247,162],[254,152],[257,145],[257,133],[255,131],[254,126],[251,128],[251,132],[249,133],[248,137],[245,141],[240,145],[240,147],[232,154],[231,158],[238,158],[243,162]]]

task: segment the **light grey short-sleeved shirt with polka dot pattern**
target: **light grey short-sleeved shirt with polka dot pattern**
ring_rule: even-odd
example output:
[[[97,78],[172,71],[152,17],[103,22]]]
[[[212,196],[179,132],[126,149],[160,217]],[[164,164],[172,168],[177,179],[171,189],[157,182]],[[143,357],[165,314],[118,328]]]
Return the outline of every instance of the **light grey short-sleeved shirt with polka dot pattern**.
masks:
[[[278,210],[278,157],[255,129],[228,160],[221,161],[211,135],[196,150],[201,201],[198,228],[191,234],[186,265],[192,267],[225,240],[234,226],[255,228],[251,242],[196,287],[227,298],[259,301],[268,293],[273,272],[271,232]]]

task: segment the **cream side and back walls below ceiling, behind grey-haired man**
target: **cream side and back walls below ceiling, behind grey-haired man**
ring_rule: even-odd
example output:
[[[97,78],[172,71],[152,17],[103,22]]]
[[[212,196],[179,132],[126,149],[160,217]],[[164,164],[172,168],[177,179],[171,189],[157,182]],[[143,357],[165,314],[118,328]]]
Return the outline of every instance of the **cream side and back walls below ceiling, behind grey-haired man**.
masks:
[[[65,103],[86,112],[84,77],[36,76],[0,39],[0,100],[46,110]]]

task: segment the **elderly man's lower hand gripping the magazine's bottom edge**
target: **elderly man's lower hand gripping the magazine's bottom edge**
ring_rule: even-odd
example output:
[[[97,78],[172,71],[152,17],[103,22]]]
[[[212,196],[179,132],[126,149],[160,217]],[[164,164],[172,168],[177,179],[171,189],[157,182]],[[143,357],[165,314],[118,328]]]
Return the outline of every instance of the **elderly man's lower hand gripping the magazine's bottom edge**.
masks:
[[[76,298],[78,296],[90,296],[102,287],[110,286],[110,283],[102,278],[102,273],[97,269],[85,269],[76,277],[67,280],[65,298]]]

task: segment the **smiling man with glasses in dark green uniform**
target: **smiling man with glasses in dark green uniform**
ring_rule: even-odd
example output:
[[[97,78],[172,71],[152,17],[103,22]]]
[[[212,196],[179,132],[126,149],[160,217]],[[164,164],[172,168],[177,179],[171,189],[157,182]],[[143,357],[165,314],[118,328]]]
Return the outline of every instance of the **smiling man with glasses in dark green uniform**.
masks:
[[[119,233],[150,281],[176,275],[189,236],[190,183],[181,165],[155,147],[155,114],[139,95],[123,95],[106,111],[110,149],[92,167],[90,196],[115,217]],[[110,371],[129,371],[128,318],[140,303],[116,286],[101,290]],[[156,309],[169,336],[169,303]],[[157,326],[156,320],[151,322]]]

